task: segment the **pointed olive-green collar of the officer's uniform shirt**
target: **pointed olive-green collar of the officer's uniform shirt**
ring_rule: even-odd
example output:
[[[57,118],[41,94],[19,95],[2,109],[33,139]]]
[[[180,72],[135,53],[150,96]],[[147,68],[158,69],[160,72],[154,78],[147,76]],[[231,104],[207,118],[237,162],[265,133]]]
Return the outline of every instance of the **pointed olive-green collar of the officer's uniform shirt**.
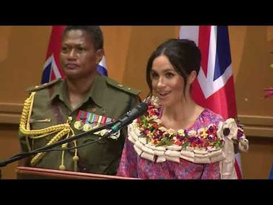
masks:
[[[91,98],[92,101],[94,101],[94,103],[98,105],[99,107],[104,106],[104,101],[102,96],[103,96],[103,91],[105,89],[106,89],[106,77],[102,77],[100,74],[96,74],[96,76],[94,77],[94,82],[92,84],[92,87],[87,93],[87,96],[85,96],[83,103],[86,102],[89,98]],[[56,87],[54,87],[54,89],[50,91],[49,101],[52,101],[56,97],[58,97],[61,101],[64,101],[66,104],[68,104],[66,80],[62,80],[60,84],[57,84]]]

